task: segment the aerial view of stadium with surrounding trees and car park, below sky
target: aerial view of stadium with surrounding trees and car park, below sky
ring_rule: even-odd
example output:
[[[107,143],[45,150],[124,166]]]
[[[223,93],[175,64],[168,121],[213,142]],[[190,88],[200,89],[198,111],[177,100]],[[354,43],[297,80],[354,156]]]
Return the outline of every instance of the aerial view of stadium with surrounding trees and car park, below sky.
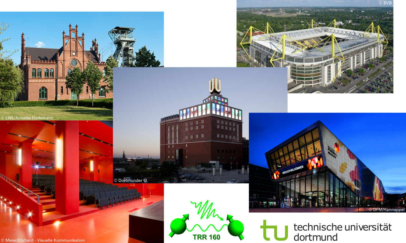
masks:
[[[288,68],[288,93],[393,93],[393,5],[367,6],[237,8],[237,67]]]

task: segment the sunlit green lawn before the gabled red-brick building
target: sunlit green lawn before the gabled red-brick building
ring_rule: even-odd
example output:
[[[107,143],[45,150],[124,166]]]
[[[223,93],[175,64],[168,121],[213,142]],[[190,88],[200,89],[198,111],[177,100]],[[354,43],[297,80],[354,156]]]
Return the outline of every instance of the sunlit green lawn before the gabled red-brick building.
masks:
[[[32,120],[32,116],[50,117],[40,120],[112,120],[113,110],[76,106],[12,107],[0,109],[1,120],[11,120],[15,119],[15,117],[19,117],[21,120],[24,117],[30,117]]]

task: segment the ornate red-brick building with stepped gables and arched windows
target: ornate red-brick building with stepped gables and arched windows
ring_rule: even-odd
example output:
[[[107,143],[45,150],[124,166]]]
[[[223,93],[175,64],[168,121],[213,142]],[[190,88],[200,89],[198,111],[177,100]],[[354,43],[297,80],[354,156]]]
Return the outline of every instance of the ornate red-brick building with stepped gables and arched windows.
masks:
[[[78,25],[73,29],[69,24],[69,35],[62,32],[62,47],[35,48],[25,47],[24,33],[21,36],[21,64],[24,71],[24,90],[19,100],[76,100],[65,85],[65,77],[76,66],[83,71],[89,62],[104,72],[105,62],[100,61],[99,44],[92,40],[90,51],[84,50],[84,34],[78,36]],[[95,98],[112,98],[113,93],[104,90],[104,79],[100,81],[101,89]],[[85,84],[79,99],[91,98],[91,91]]]

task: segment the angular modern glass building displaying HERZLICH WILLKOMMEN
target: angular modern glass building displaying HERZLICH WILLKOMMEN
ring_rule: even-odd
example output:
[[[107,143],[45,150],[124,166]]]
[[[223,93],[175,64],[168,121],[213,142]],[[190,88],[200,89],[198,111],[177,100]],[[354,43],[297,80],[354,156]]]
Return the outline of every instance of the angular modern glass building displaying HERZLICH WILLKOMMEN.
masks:
[[[266,153],[278,206],[358,207],[358,196],[360,207],[386,203],[382,181],[320,121],[290,140]]]

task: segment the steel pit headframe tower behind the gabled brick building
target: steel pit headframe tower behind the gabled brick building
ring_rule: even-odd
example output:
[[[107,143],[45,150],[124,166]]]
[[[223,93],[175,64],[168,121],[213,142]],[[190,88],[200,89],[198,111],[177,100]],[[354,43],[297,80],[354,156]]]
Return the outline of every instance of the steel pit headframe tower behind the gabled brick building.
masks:
[[[116,27],[108,32],[108,35],[112,39],[114,45],[116,45],[116,51],[114,51],[113,58],[120,62],[121,57],[123,57],[122,66],[129,67],[130,64],[134,64],[134,42],[136,41],[133,37],[132,31],[135,28],[129,27]]]

